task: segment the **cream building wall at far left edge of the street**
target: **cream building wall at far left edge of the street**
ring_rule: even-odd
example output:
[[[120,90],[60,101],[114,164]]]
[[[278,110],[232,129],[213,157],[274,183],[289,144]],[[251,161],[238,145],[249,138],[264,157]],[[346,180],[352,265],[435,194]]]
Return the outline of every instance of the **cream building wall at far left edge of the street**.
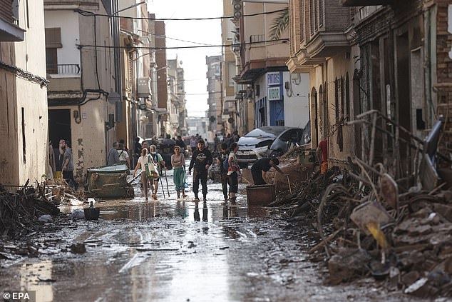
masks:
[[[19,186],[48,173],[48,83],[43,1],[13,3],[0,4],[0,183]]]

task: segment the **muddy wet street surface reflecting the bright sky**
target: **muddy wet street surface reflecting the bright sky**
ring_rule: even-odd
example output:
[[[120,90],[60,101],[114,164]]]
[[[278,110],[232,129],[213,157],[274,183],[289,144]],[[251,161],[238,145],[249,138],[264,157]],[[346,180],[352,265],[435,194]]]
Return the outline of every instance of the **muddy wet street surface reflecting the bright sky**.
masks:
[[[0,261],[0,290],[36,291],[37,301],[412,301],[367,278],[326,286],[307,261],[308,236],[242,193],[225,204],[220,183],[207,202],[165,198],[99,201],[98,221],[67,219],[29,236],[36,258]],[[191,178],[188,178],[191,184]],[[240,185],[243,192],[245,185]],[[62,208],[72,211],[73,208]],[[84,243],[85,253],[71,253]]]

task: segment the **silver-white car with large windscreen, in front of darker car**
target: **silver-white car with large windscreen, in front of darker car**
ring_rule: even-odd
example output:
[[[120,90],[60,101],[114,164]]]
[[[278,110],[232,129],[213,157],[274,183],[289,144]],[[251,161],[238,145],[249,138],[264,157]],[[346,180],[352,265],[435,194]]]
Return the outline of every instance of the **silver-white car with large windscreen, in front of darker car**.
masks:
[[[239,150],[236,153],[240,168],[245,168],[248,164],[267,157],[269,146],[287,129],[289,127],[286,126],[264,126],[242,136],[237,142]]]

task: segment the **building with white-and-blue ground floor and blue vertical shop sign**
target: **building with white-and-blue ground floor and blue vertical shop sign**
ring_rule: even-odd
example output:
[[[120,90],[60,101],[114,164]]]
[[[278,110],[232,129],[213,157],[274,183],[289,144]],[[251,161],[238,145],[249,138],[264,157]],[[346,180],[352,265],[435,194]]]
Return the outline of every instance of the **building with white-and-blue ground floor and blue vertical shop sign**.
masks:
[[[289,74],[286,66],[289,34],[283,32],[277,40],[270,34],[278,14],[287,8],[287,1],[240,3],[246,18],[242,16],[235,21],[236,40],[240,41],[233,48],[240,59],[240,74],[235,77],[241,85],[236,96],[238,111],[248,115],[244,120],[251,128],[306,126],[309,76],[299,74],[301,71]]]

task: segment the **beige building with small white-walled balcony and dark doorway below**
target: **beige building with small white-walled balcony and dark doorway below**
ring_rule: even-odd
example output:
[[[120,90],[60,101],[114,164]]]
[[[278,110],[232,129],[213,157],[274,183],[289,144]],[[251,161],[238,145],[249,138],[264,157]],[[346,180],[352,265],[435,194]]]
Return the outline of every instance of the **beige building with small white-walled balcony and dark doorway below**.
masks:
[[[116,140],[120,119],[115,102],[111,23],[112,6],[98,1],[44,1],[48,133],[52,142],[66,139],[74,154],[74,177],[103,166]],[[54,145],[53,148],[58,148]]]

